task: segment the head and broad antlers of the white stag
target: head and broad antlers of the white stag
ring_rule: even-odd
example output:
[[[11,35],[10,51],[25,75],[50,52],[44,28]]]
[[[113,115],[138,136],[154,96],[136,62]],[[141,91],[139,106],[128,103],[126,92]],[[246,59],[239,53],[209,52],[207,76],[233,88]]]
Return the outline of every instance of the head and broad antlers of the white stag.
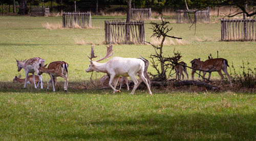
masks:
[[[106,46],[106,55],[105,55],[105,57],[103,57],[99,60],[93,61],[93,58],[97,57],[94,55],[94,45],[92,45],[92,48],[91,48],[91,56],[89,56],[88,54],[87,54],[87,56],[90,60],[90,65],[86,69],[86,72],[93,72],[94,70],[97,71],[97,68],[95,67],[95,62],[99,62],[101,60],[108,59],[109,57],[113,56],[113,45],[111,44],[110,46]]]

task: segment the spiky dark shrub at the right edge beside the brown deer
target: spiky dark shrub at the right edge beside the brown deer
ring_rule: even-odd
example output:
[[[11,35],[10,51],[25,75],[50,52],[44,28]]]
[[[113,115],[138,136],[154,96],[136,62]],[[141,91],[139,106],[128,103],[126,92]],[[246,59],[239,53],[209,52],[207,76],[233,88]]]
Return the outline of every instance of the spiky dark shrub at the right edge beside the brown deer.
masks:
[[[232,78],[238,82],[242,87],[248,87],[248,88],[255,88],[256,87],[256,68],[251,69],[249,67],[249,62],[247,62],[247,71],[245,70],[245,66],[244,66],[244,61],[243,61],[243,65],[240,66],[242,69],[242,73],[237,73],[236,69],[233,66],[233,72],[234,74],[232,74]]]

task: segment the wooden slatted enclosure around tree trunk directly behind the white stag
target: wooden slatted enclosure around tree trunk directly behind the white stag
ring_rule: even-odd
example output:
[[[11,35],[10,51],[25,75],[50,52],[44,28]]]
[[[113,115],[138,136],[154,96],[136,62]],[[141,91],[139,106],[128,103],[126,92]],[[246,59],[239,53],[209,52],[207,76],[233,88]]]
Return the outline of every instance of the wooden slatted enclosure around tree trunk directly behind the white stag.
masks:
[[[130,40],[126,40],[125,27],[130,26]],[[105,20],[106,43],[140,43],[145,44],[144,21]]]

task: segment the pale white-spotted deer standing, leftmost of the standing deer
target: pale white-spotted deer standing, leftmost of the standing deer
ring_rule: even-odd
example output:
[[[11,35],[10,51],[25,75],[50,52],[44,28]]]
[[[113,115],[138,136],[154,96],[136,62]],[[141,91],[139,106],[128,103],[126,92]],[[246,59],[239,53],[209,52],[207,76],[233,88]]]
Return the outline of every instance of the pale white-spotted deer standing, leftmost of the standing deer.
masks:
[[[25,78],[24,88],[26,88],[26,85],[27,85],[28,74],[32,73],[33,74],[33,81],[34,81],[35,88],[37,88],[39,83],[41,83],[41,89],[42,89],[42,77],[40,75],[38,75],[38,68],[39,68],[39,64],[44,65],[45,59],[41,59],[39,57],[35,57],[35,58],[30,58],[27,61],[26,60],[27,59],[25,59],[24,61],[18,61],[16,59],[17,67],[18,67],[18,72],[20,70],[22,70],[22,68],[24,68],[24,70],[25,70],[26,78]],[[37,83],[37,86],[35,84],[35,73],[39,77],[39,83]]]

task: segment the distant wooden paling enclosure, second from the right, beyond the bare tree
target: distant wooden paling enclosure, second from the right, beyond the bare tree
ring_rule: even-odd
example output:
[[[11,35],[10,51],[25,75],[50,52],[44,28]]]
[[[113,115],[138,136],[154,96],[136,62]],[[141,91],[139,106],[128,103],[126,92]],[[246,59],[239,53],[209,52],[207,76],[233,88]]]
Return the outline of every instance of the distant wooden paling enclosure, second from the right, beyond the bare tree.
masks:
[[[205,23],[210,21],[209,9],[206,10],[176,10],[176,23]]]

